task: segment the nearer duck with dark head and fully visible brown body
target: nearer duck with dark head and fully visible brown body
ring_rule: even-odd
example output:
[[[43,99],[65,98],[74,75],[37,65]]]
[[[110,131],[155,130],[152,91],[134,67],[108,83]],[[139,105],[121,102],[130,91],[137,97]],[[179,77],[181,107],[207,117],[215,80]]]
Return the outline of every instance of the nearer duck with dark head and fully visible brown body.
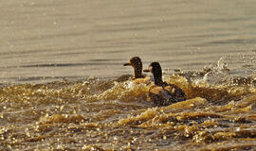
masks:
[[[162,69],[158,62],[152,62],[143,72],[151,72],[154,76],[155,84],[151,86],[148,94],[156,106],[168,106],[186,100],[185,92],[174,84],[162,80]]]

